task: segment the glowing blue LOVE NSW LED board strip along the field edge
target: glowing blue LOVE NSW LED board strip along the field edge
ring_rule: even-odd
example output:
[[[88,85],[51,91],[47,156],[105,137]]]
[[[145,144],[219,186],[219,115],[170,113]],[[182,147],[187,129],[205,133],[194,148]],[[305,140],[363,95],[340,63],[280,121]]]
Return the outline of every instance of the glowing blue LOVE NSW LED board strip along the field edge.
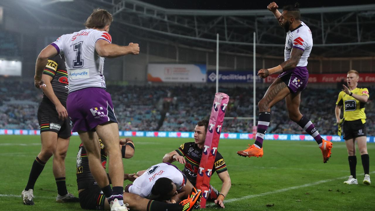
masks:
[[[216,130],[215,130],[216,131]],[[171,132],[171,131],[119,131],[120,136],[125,137],[165,137],[165,138],[193,138],[193,132]],[[39,130],[13,130],[0,129],[0,135],[40,135]],[[78,133],[72,133],[73,136],[78,136]],[[340,136],[337,135],[321,135],[325,140],[331,142],[344,142]],[[220,133],[220,139],[254,139],[252,133]],[[266,134],[266,140],[292,140],[292,141],[315,141],[314,138],[308,134]],[[375,136],[368,136],[367,142],[375,143]]]

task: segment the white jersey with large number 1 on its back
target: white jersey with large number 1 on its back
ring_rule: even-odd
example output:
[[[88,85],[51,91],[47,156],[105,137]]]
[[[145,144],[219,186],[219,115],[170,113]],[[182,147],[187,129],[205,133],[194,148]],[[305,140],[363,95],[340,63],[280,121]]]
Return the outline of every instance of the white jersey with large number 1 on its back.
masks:
[[[59,54],[64,54],[68,70],[69,92],[87,87],[105,89],[104,58],[95,50],[96,41],[104,39],[112,42],[111,35],[96,29],[62,35],[51,45]]]

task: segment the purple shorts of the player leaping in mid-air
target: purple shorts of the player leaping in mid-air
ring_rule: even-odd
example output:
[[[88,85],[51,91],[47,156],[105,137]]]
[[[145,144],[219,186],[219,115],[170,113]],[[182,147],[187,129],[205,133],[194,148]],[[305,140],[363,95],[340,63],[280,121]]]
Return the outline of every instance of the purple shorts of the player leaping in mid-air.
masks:
[[[291,93],[296,93],[306,88],[309,81],[309,71],[306,66],[296,67],[290,71],[282,72],[278,78],[281,78],[287,84]]]

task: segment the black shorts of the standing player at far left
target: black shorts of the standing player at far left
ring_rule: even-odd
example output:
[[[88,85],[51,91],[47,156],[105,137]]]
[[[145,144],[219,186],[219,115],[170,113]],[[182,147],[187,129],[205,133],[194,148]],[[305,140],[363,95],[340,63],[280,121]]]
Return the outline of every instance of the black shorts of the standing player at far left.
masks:
[[[38,109],[38,122],[40,133],[52,131],[57,133],[58,137],[71,137],[71,121],[69,118],[62,121],[58,119],[56,107],[52,103],[42,101]]]

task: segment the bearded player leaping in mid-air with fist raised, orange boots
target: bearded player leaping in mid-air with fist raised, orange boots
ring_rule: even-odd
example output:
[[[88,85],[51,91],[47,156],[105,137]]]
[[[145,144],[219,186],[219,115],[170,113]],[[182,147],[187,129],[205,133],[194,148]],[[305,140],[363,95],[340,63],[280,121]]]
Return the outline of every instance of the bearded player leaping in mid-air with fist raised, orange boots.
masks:
[[[275,73],[279,76],[258,103],[259,121],[255,143],[249,145],[245,150],[237,151],[237,154],[244,157],[263,156],[263,139],[271,121],[271,108],[285,98],[289,118],[314,137],[322,151],[323,162],[326,163],[331,156],[332,142],[322,139],[314,124],[299,110],[301,92],[306,88],[309,79],[306,66],[312,49],[311,31],[305,23],[300,21],[301,14],[298,3],[294,6],[285,6],[282,13],[278,11],[278,5],[275,2],[270,3],[267,9],[275,15],[280,26],[284,27],[287,33],[284,50],[285,61],[274,68],[258,71],[261,78]]]

